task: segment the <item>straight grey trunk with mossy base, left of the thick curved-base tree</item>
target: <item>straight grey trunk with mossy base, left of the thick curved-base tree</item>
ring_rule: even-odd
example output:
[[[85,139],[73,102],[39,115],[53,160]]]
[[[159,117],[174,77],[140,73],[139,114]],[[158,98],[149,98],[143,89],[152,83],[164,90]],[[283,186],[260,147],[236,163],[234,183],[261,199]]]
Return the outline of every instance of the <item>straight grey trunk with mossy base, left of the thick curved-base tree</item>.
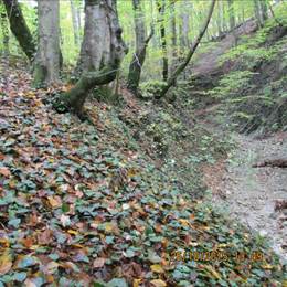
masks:
[[[59,0],[38,1],[39,44],[34,67],[34,85],[51,84],[59,81],[60,13]]]

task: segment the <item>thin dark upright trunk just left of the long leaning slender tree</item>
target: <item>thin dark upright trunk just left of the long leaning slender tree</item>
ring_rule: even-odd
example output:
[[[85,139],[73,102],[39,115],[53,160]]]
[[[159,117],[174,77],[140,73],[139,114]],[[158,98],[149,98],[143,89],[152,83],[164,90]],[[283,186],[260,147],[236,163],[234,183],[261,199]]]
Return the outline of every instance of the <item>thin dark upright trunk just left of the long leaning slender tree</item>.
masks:
[[[162,78],[168,79],[169,64],[168,64],[168,50],[167,50],[167,36],[166,36],[166,25],[164,25],[164,13],[166,13],[166,0],[157,0],[159,21],[160,21],[160,40],[162,50]]]

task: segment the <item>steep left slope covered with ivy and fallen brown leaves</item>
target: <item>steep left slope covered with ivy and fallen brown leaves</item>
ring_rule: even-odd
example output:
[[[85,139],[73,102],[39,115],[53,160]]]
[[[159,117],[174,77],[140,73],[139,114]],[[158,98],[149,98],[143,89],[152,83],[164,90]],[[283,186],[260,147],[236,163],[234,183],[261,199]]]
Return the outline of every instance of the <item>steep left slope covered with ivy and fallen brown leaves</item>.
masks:
[[[139,105],[126,92],[119,107],[91,99],[89,123],[81,123],[52,110],[47,93],[57,89],[31,89],[24,67],[8,72],[0,83],[1,286],[283,285],[285,266],[262,238],[194,200],[198,163],[222,149],[210,134],[180,121],[173,107]]]

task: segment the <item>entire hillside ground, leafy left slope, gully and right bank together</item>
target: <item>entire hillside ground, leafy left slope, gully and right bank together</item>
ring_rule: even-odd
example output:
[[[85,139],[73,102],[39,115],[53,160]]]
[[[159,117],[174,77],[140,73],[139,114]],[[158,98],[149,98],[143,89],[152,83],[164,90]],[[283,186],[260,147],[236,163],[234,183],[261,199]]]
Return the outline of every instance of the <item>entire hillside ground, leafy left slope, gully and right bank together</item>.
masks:
[[[85,120],[1,59],[0,287],[286,286],[287,173],[256,166],[287,155],[279,19],[202,45],[164,99],[94,89]]]

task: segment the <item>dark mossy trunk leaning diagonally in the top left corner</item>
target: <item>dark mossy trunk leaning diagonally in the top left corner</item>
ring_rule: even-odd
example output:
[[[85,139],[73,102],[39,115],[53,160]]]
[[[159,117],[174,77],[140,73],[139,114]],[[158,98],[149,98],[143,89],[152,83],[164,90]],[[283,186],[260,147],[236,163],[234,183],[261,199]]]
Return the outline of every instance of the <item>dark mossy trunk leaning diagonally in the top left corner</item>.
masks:
[[[10,22],[10,29],[25,55],[30,62],[32,62],[34,60],[36,47],[32,34],[25,23],[21,7],[19,6],[18,0],[3,0],[3,2]]]

